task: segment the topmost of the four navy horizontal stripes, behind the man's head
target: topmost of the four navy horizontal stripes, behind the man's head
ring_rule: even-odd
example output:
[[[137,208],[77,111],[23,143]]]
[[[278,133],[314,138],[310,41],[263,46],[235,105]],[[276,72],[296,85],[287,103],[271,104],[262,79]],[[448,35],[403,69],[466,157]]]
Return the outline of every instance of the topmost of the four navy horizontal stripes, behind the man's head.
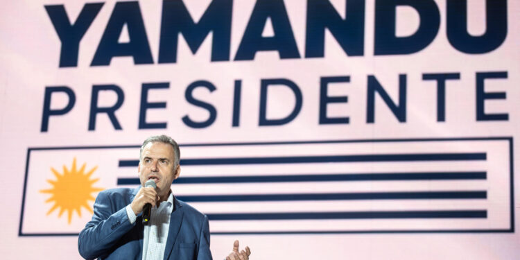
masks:
[[[395,155],[331,155],[181,159],[181,165],[299,164],[320,162],[416,162],[485,160],[486,153],[416,153]],[[120,160],[119,166],[137,166],[139,160]]]

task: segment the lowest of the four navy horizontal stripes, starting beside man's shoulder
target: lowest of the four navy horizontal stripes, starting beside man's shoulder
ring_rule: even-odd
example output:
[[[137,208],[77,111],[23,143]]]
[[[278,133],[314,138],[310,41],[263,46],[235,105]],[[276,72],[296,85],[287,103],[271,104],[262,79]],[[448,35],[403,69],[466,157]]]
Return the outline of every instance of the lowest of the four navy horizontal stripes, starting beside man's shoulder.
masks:
[[[293,213],[206,214],[209,220],[301,220],[360,218],[487,218],[486,210],[451,211],[343,211]]]

